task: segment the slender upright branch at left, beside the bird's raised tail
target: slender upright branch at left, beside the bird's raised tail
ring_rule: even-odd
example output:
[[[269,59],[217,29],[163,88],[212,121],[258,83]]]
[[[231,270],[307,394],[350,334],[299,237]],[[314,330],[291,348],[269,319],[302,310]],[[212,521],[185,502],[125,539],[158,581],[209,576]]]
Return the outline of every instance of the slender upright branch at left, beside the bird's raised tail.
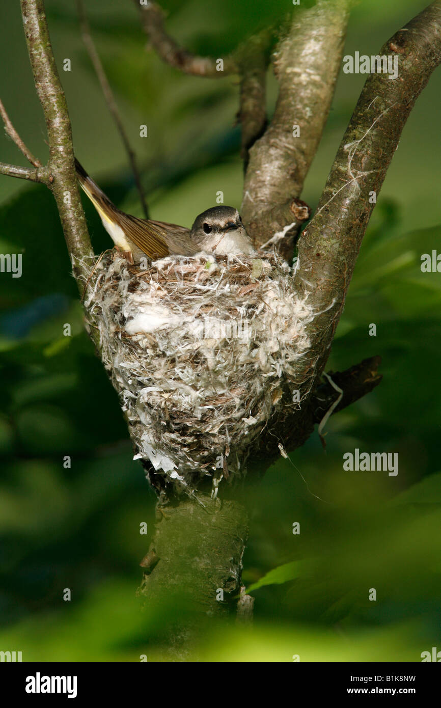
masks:
[[[71,124],[47,30],[43,0],[21,0],[21,12],[35,87],[49,142],[48,181],[57,202],[74,276],[82,294],[93,250],[81,205],[74,167]],[[88,263],[86,263],[88,261]]]

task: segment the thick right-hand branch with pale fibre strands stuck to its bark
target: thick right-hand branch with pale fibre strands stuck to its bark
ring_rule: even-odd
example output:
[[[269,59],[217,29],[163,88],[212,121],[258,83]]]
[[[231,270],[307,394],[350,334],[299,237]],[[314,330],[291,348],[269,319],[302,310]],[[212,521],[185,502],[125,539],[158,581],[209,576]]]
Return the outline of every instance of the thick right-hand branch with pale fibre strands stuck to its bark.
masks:
[[[409,113],[441,62],[441,1],[425,8],[382,47],[399,57],[399,76],[371,74],[340,144],[319,207],[299,239],[294,291],[318,314],[309,325],[310,359],[298,375],[319,376],[343,310],[355,261]]]

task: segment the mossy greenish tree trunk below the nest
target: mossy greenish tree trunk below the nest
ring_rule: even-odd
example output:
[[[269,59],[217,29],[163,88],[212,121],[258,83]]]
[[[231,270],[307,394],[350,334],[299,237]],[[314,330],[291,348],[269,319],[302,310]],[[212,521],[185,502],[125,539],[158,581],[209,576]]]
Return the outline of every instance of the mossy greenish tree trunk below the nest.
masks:
[[[149,610],[172,617],[163,630],[165,656],[195,657],[197,639],[215,617],[234,617],[241,590],[247,515],[238,501],[181,498],[159,507],[154,537],[141,566],[139,594]],[[202,502],[202,503],[201,503]]]

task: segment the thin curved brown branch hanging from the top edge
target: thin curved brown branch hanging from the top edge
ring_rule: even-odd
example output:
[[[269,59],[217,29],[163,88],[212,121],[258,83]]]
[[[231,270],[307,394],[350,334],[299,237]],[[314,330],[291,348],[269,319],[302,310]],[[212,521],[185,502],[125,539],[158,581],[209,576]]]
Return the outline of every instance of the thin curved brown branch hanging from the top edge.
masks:
[[[209,79],[219,79],[227,74],[236,74],[237,66],[234,58],[224,57],[224,67],[219,70],[217,60],[212,57],[198,57],[188,50],[180,47],[173,38],[166,33],[164,28],[164,12],[159,5],[149,2],[148,5],[140,5],[139,0],[134,0],[139,8],[144,31],[149,37],[156,54],[163,62],[175,69],[179,69],[184,74],[192,76],[205,76]]]

